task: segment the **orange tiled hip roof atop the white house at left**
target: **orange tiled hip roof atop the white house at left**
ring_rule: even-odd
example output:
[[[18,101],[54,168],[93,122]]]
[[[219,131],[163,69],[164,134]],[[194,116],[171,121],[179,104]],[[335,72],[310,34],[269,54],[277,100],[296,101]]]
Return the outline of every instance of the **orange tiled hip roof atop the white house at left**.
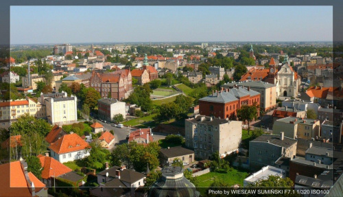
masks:
[[[51,143],[49,148],[54,150],[54,152],[57,154],[64,154],[67,152],[85,150],[86,148],[91,148],[91,146],[89,146],[89,144],[76,133],[73,133],[69,135],[63,135],[55,143]]]

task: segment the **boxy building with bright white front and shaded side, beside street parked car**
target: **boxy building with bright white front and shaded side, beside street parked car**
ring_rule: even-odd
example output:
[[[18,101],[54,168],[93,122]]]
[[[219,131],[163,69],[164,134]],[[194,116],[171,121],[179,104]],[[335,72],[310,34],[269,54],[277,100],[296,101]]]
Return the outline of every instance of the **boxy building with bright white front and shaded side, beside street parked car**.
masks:
[[[126,119],[126,103],[113,98],[102,98],[97,100],[98,115],[106,121],[112,121],[117,114],[123,115]]]

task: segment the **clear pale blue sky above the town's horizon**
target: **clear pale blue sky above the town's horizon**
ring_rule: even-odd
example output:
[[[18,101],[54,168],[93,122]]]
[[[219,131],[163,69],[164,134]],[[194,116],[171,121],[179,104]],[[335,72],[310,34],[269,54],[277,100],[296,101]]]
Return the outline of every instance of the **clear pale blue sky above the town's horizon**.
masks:
[[[332,6],[11,6],[11,44],[332,41]]]

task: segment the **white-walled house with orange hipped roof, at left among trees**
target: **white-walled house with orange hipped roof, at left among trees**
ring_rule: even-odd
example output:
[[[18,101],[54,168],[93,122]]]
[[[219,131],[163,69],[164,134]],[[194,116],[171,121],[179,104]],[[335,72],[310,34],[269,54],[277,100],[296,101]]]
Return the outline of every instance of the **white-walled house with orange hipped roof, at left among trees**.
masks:
[[[71,132],[71,134],[63,135],[56,142],[51,143],[48,148],[51,151],[51,157],[60,161],[60,163],[64,163],[88,157],[88,149],[91,146],[80,136]]]

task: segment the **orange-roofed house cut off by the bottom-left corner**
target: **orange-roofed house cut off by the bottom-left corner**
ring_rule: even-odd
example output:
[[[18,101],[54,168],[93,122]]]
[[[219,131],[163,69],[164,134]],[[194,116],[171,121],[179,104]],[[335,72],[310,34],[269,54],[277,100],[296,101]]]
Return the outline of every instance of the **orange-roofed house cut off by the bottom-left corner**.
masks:
[[[0,165],[0,174],[0,196],[48,196],[45,184],[27,172],[25,161]]]

